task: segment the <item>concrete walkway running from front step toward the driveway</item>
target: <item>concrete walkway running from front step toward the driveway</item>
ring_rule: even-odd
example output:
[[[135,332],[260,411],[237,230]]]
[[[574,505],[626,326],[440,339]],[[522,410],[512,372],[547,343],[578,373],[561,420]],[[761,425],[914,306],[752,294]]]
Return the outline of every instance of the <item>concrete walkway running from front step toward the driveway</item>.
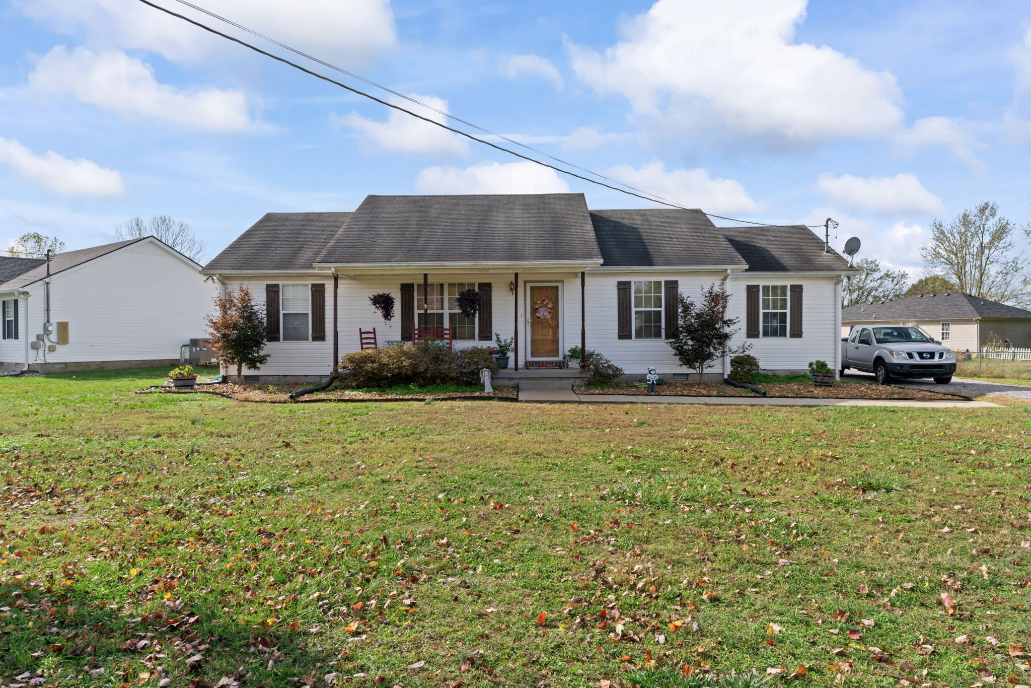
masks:
[[[744,406],[902,406],[917,408],[999,408],[989,401],[901,399],[802,399],[763,396],[652,396],[647,394],[576,394],[571,389],[520,389],[520,401],[536,403],[702,403]]]

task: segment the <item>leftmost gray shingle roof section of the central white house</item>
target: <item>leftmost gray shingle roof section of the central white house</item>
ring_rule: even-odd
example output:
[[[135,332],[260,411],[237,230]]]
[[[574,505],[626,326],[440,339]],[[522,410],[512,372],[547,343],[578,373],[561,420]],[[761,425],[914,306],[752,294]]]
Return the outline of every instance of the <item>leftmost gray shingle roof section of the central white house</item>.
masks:
[[[204,266],[206,272],[310,270],[352,212],[268,212]]]

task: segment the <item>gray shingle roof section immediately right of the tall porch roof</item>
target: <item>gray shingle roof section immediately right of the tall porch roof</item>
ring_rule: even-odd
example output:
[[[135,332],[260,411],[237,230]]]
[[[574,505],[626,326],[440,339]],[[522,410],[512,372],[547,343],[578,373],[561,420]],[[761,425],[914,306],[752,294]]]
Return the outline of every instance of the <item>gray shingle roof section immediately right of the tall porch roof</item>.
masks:
[[[606,267],[746,263],[701,210],[591,210]]]

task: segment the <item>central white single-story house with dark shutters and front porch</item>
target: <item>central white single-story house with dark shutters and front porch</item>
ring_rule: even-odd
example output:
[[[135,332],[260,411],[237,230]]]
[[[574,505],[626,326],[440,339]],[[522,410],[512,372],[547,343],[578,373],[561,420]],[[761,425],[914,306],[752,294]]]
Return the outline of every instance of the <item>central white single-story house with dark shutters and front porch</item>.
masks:
[[[764,368],[824,359],[836,370],[841,280],[853,270],[803,226],[721,229],[700,210],[589,210],[583,194],[527,194],[368,196],[354,212],[273,212],[202,272],[264,304],[270,358],[248,373],[287,382],[329,375],[360,348],[360,328],[376,328],[384,346],[426,323],[455,327],[459,347],[513,338],[506,376],[561,367],[585,346],[628,375],[655,366],[669,378],[687,372],[666,341],[677,293],[697,299],[723,281],[739,338]],[[455,303],[469,288],[484,303],[474,318]],[[379,292],[397,299],[390,322],[369,304]]]

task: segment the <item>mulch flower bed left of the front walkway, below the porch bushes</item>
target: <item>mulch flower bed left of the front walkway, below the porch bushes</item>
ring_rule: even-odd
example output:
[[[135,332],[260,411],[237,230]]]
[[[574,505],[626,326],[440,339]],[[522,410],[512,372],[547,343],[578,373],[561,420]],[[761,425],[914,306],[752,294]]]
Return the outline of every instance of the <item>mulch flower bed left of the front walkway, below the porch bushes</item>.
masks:
[[[495,387],[494,392],[413,392],[410,394],[380,394],[374,392],[348,390],[342,387],[331,387],[323,392],[305,394],[297,400],[288,395],[299,389],[311,387],[311,383],[303,385],[234,385],[223,383],[219,385],[198,385],[176,389],[174,387],[147,387],[138,390],[137,394],[213,394],[237,401],[260,401],[263,403],[298,403],[311,401],[425,401],[426,399],[516,399],[514,387]]]

